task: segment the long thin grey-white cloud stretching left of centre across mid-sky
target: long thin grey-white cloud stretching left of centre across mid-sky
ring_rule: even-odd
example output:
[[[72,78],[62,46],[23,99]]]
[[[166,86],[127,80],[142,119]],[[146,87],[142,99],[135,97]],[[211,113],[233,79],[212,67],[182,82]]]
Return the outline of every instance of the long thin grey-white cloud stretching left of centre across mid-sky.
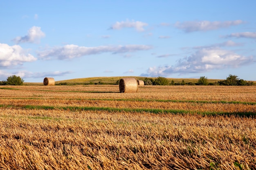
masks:
[[[152,46],[148,45],[119,45],[119,46],[96,46],[96,47],[86,47],[86,46],[77,46],[74,44],[69,44],[60,47],[53,47],[51,49],[46,49],[45,51],[38,52],[38,56],[40,59],[50,60],[58,59],[72,59],[75,57],[81,57],[85,55],[93,55],[99,53],[127,53],[127,52],[135,52],[141,50],[149,50],[152,49]]]

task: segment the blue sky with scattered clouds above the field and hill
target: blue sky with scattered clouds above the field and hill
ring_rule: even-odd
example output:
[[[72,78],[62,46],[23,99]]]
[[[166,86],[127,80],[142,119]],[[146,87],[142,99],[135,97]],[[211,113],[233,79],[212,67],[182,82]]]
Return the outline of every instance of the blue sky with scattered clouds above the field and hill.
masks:
[[[0,0],[0,81],[256,81],[255,0]]]

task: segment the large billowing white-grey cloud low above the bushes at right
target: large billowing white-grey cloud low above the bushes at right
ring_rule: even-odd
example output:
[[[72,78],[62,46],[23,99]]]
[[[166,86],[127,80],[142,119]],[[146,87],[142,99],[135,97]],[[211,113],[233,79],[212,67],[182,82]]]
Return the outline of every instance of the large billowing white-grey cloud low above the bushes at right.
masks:
[[[199,49],[189,57],[178,60],[175,66],[150,67],[141,76],[168,76],[173,73],[204,73],[214,69],[237,68],[254,62],[254,57],[245,57],[233,51],[217,47]]]

